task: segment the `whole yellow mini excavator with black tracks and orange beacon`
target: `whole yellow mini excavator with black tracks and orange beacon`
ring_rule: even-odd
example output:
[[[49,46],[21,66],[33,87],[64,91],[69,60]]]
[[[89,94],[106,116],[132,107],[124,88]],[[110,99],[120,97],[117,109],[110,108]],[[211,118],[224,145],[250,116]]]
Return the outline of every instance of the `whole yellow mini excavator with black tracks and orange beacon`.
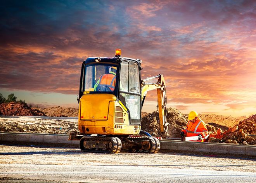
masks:
[[[115,57],[89,57],[83,62],[77,96],[80,132],[69,135],[69,140],[80,140],[83,152],[159,151],[158,138],[141,130],[141,109],[147,91],[157,89],[160,131],[166,137],[165,81],[162,74],[141,80],[141,64],[140,59],[121,57],[120,49]],[[150,83],[152,79],[157,82]]]

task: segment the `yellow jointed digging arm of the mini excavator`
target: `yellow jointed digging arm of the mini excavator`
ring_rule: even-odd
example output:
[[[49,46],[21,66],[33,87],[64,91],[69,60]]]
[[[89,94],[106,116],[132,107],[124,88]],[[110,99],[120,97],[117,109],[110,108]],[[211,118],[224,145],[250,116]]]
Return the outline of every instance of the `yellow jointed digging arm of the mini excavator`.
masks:
[[[148,82],[149,80],[156,79],[156,78],[157,78],[156,83]],[[157,89],[157,106],[159,110],[160,131],[162,133],[162,136],[168,136],[169,124],[167,123],[167,120],[166,120],[166,103],[167,103],[166,86],[165,86],[164,76],[162,74],[158,74],[157,76],[153,76],[153,77],[142,80],[142,83],[141,83],[142,105],[141,106],[143,106],[144,104],[144,100],[146,98],[147,92],[155,89]]]

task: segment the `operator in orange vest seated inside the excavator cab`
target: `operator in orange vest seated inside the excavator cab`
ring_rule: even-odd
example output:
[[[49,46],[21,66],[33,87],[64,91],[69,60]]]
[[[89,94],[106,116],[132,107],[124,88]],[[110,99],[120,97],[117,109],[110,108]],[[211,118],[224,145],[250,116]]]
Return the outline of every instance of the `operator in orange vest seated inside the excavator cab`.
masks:
[[[101,75],[94,85],[94,91],[114,91],[116,85],[116,67],[109,68],[109,74]]]

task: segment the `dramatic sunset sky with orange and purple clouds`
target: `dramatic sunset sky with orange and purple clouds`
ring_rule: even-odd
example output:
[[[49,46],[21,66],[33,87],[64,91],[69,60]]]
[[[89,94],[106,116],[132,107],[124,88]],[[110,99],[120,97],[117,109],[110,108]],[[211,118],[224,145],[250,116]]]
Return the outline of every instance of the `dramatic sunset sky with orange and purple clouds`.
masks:
[[[78,107],[87,57],[142,59],[163,74],[167,107],[256,114],[256,1],[1,1],[0,93],[39,106]],[[143,111],[156,110],[156,91]]]

